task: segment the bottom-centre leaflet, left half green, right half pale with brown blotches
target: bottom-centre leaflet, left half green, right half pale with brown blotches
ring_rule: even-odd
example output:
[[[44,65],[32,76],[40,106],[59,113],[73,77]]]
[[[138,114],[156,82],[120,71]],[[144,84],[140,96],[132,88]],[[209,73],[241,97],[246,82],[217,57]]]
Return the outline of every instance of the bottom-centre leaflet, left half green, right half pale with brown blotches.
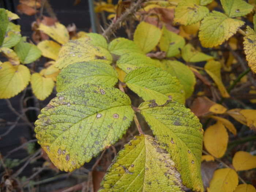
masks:
[[[149,135],[136,136],[119,151],[99,192],[184,191],[170,154]]]

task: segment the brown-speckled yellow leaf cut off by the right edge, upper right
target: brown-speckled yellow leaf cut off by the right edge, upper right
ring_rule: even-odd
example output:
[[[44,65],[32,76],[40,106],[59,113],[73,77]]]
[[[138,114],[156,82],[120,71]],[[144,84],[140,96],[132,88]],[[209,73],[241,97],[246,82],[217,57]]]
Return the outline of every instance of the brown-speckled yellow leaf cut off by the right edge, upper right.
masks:
[[[251,27],[247,26],[246,33],[244,36],[244,52],[246,54],[246,60],[248,61],[248,65],[251,68],[252,72],[256,73],[256,33],[251,29]]]

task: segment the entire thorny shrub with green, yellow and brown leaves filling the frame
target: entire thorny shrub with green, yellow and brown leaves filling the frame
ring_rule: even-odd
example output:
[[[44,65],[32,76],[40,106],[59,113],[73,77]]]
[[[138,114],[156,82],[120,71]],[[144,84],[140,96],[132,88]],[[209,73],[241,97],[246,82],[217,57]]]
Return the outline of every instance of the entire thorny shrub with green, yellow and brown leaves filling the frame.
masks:
[[[182,25],[180,34],[170,30],[163,19],[159,19],[161,29],[146,22],[142,17],[145,13],[140,14],[142,10],[137,6],[133,11],[130,8],[116,15],[103,35],[80,32],[71,38],[62,24],[46,26],[41,23],[38,30],[55,41],[44,40],[37,46],[25,42],[19,27],[10,22],[18,15],[0,9],[0,16],[4,18],[0,23],[1,34],[4,34],[0,36],[0,50],[9,59],[1,63],[0,98],[15,96],[31,81],[35,96],[44,100],[52,93],[56,81],[58,93],[41,110],[35,121],[35,133],[50,160],[66,172],[90,162],[123,135],[130,134],[127,130],[134,123],[139,134],[130,134],[133,139],[114,158],[103,177],[100,192],[184,191],[185,187],[204,191],[201,161],[222,162],[220,158],[225,155],[229,142],[227,130],[237,135],[237,129],[226,116],[256,131],[256,110],[227,110],[222,105],[250,68],[256,72],[255,30],[249,26],[245,32],[240,29],[245,24],[241,16],[252,12],[253,6],[243,0],[221,0],[223,12],[210,12],[212,4],[212,0],[139,3],[146,12],[153,8],[176,7],[174,23]],[[106,10],[106,5],[111,7],[110,12],[115,12],[111,2],[97,4],[100,5],[98,12]],[[118,6],[120,9],[120,3]],[[116,23],[124,23],[122,15],[128,13],[130,16],[136,11],[140,22],[133,40],[115,38],[109,41],[109,31],[116,30],[119,25]],[[256,16],[253,21],[255,25]],[[197,37],[198,30],[204,48],[225,44],[237,31],[244,35],[244,51],[250,68],[240,74],[229,89],[222,82],[221,68],[229,68],[232,61],[223,67],[216,54],[205,54],[193,46],[188,40],[191,36]],[[53,60],[45,69],[38,73],[25,66],[41,54]],[[204,62],[204,67],[195,65],[199,62]],[[219,102],[197,97],[191,109],[186,108],[186,99],[194,93],[195,76],[214,89],[203,76],[205,74],[218,87]],[[137,101],[142,100],[133,93],[144,102],[138,105]],[[143,118],[139,118],[141,116]],[[198,117],[208,118],[204,121],[204,129],[210,119],[217,122],[204,131]],[[143,119],[153,134],[144,130]],[[203,142],[208,152],[203,150]],[[233,167],[223,165],[225,168],[214,172],[208,191],[256,191],[237,174],[255,168],[256,156],[238,151],[232,161]],[[238,185],[238,178],[243,184]]]

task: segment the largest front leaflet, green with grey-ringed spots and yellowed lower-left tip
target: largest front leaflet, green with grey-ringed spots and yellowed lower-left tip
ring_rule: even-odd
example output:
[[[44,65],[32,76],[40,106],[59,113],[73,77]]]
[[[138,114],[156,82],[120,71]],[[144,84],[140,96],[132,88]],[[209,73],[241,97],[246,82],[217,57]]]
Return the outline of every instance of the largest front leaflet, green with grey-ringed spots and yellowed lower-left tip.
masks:
[[[120,139],[134,111],[122,91],[88,84],[57,94],[35,122],[38,143],[60,170],[72,171]]]

